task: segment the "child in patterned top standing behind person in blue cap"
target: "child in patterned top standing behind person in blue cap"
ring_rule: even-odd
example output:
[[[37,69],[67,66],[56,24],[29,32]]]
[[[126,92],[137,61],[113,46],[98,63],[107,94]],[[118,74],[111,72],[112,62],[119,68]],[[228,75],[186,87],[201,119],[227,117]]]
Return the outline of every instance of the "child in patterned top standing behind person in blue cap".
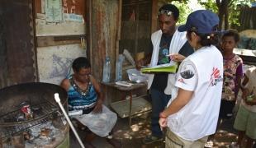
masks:
[[[237,98],[239,83],[243,76],[243,61],[233,53],[239,42],[239,33],[236,30],[227,30],[221,39],[223,55],[224,80],[220,103],[219,123],[222,119],[229,119],[233,116],[233,109]]]

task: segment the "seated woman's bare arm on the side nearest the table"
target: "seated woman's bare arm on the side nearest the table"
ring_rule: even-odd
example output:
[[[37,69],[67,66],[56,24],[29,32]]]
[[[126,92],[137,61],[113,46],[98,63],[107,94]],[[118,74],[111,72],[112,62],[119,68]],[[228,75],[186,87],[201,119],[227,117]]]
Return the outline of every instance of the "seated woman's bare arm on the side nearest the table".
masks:
[[[97,104],[95,105],[95,108],[93,109],[94,113],[101,113],[102,112],[102,104],[104,102],[104,96],[102,93],[102,89],[100,84],[96,81],[96,79],[93,76],[90,76],[90,80],[92,82],[92,86],[97,92]]]

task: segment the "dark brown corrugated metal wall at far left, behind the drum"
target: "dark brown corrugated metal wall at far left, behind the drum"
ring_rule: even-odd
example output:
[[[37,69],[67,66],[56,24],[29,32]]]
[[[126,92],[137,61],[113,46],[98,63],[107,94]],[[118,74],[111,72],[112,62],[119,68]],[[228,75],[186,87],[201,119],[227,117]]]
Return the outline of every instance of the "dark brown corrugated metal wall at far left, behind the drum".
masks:
[[[36,81],[31,0],[2,0],[1,87]]]

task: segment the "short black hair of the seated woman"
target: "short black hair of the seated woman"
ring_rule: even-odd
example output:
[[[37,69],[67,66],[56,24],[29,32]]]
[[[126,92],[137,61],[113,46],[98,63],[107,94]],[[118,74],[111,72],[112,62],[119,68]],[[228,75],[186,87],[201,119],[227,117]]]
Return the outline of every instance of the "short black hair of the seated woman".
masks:
[[[72,68],[74,72],[79,72],[82,68],[90,68],[91,64],[88,58],[79,57],[73,60]]]

